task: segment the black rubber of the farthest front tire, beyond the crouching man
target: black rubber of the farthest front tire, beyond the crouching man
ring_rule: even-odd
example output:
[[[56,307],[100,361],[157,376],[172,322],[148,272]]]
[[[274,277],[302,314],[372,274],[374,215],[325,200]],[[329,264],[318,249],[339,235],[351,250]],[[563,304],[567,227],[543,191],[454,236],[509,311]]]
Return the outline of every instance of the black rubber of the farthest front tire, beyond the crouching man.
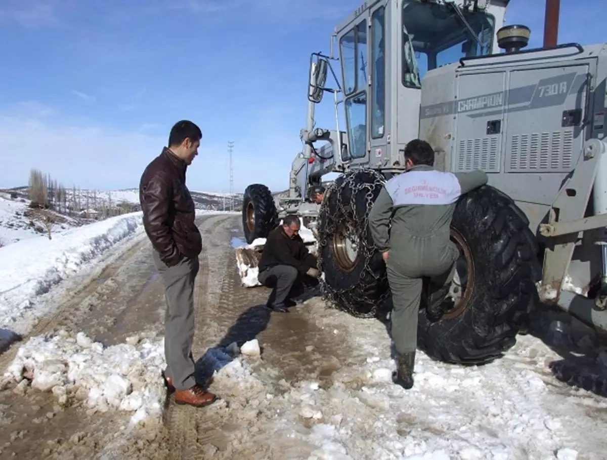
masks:
[[[251,202],[255,209],[253,232],[249,232],[246,224],[246,208]],[[278,211],[270,189],[263,184],[248,185],[242,200],[242,230],[246,242],[251,244],[256,238],[267,238],[268,233],[276,228],[278,223]]]

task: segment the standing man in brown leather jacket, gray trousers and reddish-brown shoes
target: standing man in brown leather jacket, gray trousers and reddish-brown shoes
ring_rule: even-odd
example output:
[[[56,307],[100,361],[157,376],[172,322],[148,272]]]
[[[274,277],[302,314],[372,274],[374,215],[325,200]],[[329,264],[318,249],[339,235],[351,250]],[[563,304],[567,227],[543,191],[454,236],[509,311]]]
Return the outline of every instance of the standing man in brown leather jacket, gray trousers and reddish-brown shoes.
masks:
[[[186,170],[198,154],[202,132],[194,123],[175,123],[164,148],[143,171],[139,201],[143,225],[152,242],[155,266],[164,282],[164,379],[175,402],[202,407],[217,397],[194,380],[194,280],[202,238],[194,223],[194,201]]]

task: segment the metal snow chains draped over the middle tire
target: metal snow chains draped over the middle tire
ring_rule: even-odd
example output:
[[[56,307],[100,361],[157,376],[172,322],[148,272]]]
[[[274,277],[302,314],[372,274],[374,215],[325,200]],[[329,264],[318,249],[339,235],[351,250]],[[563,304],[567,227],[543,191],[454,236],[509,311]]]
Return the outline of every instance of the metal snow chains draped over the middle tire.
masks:
[[[319,266],[324,267],[322,247],[329,244],[328,240],[337,233],[339,227],[344,225],[347,225],[349,229],[353,228],[354,232],[352,233],[355,233],[358,237],[358,256],[364,260],[365,264],[364,269],[361,270],[359,275],[358,283],[356,283],[356,289],[351,289],[350,287],[337,289],[328,286],[325,280],[321,279],[320,289],[322,298],[327,301],[328,306],[348,312],[348,314],[358,318],[375,317],[378,309],[384,305],[390,295],[389,289],[382,292],[376,300],[370,300],[364,295],[369,290],[375,290],[375,286],[378,283],[387,285],[387,274],[385,271],[382,271],[378,275],[370,266],[370,261],[378,249],[371,242],[372,239],[370,238],[368,228],[369,213],[385,182],[384,176],[375,170],[348,171],[348,173],[343,174],[329,185],[325,192],[325,199],[322,205],[320,205],[320,219],[324,220],[324,222],[319,228]],[[349,190],[347,195],[349,195],[350,199],[347,201],[344,200],[344,193],[342,193],[344,190]],[[364,193],[364,199],[367,202],[365,215],[362,219],[356,215],[356,202],[361,192]],[[331,212],[329,209],[329,202],[333,194],[336,195],[336,212]],[[365,306],[364,311],[361,311],[360,306]],[[370,309],[368,308],[369,306],[371,306]]]

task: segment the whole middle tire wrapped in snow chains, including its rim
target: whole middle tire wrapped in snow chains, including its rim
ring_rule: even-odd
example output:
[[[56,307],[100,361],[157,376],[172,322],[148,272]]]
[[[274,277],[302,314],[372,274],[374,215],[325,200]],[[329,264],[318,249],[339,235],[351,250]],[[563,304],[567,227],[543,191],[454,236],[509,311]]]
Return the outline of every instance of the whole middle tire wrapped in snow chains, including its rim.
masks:
[[[390,295],[385,264],[368,231],[368,213],[385,180],[372,170],[339,176],[320,207],[322,293],[336,309],[375,317]]]

